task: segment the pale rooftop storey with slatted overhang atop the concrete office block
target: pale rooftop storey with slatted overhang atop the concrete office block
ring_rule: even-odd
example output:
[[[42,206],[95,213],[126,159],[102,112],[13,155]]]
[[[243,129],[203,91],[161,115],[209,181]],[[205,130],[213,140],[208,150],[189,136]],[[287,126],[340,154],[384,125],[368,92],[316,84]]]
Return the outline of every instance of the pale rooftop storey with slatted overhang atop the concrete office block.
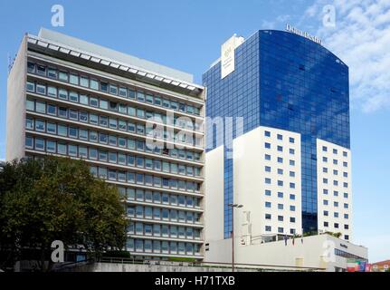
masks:
[[[204,87],[193,82],[194,76],[176,69],[119,53],[66,34],[41,29],[38,36],[28,34],[29,48],[73,63],[123,75],[140,82],[197,96]]]

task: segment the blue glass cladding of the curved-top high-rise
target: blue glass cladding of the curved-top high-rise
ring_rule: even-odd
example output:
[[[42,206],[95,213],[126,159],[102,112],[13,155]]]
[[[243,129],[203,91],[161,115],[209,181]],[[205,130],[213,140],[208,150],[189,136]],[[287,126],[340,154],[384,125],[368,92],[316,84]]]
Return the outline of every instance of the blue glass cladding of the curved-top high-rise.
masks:
[[[338,155],[349,158],[350,155],[347,65],[319,43],[297,34],[274,30],[258,31],[239,44],[234,50],[234,61],[233,72],[224,78],[221,77],[221,61],[214,63],[204,73],[203,84],[207,88],[206,116],[209,118],[243,117],[241,134],[259,127],[300,134],[299,194],[303,232],[319,229],[335,232],[349,230],[348,221],[338,222],[332,219],[333,216],[338,216],[336,215],[338,208],[334,208],[339,204],[338,199],[327,199],[327,194],[350,198],[350,192],[347,192],[350,191],[350,182],[339,177],[342,175],[343,178],[349,178],[350,165],[347,160],[336,158]],[[233,140],[239,137],[234,127]],[[226,238],[230,237],[232,231],[232,208],[228,204],[235,202],[233,190],[236,175],[233,160],[227,156],[232,144],[228,144],[229,141],[224,141],[222,136],[218,136],[224,132],[215,131],[211,122],[208,123],[207,132],[208,152],[220,147],[224,142],[224,237]],[[267,132],[266,136],[269,134]],[[279,135],[278,138],[281,139]],[[276,138],[275,136],[275,140]],[[319,151],[328,152],[328,147],[323,145],[323,142],[331,145],[332,154],[336,157],[327,157],[325,153],[319,153]],[[262,147],[263,145],[259,143],[259,149]],[[283,149],[278,146],[278,150]],[[291,152],[294,150],[290,149]],[[269,154],[265,155],[267,157]],[[319,155],[321,164],[323,161],[329,162],[330,166],[321,165],[319,168]],[[275,155],[274,158],[281,161],[281,157]],[[340,170],[334,168],[339,163],[344,165],[344,169],[342,166]],[[275,164],[277,166],[277,163]],[[259,166],[263,165],[259,164]],[[266,169],[268,168],[266,166]],[[278,172],[281,171],[279,169]],[[334,175],[325,176],[325,171],[327,174],[330,171]],[[290,171],[290,176],[295,176],[295,172]],[[273,177],[277,179],[276,173]],[[259,183],[262,182],[263,180],[259,179]],[[282,180],[278,182],[279,185],[282,184]],[[332,185],[327,188],[330,183]],[[288,188],[280,189],[277,193],[279,196],[283,195],[281,191],[285,191],[285,196],[289,194]],[[213,193],[207,192],[207,194]],[[330,209],[322,208],[323,204],[327,206],[331,202],[333,203],[329,205]],[[340,201],[340,204],[343,203],[344,208],[348,207],[346,200]],[[260,208],[262,207],[259,207],[259,210]],[[329,212],[332,218],[327,220],[327,214],[330,216]],[[267,214],[266,210],[265,214]],[[348,213],[344,213],[343,217],[348,219]],[[341,228],[341,225],[344,225],[344,228]],[[271,227],[266,226],[266,228]],[[281,230],[282,227],[278,228],[280,234],[286,234],[286,230]],[[299,228],[298,231],[300,230]],[[291,230],[288,234],[293,233],[294,230]],[[349,239],[349,234],[344,237]]]

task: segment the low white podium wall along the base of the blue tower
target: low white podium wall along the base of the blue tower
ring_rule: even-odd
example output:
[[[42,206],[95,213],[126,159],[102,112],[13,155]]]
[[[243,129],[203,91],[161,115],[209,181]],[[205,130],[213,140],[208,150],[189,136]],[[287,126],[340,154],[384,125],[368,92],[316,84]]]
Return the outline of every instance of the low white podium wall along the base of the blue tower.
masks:
[[[231,239],[214,241],[210,245],[209,253],[206,252],[205,262],[222,262],[223,258],[225,262],[226,257],[232,255],[232,247],[228,247],[231,242]],[[347,258],[335,256],[335,248],[366,259],[368,256],[366,247],[353,245],[336,237],[319,235],[304,237],[303,243],[300,238],[296,238],[295,245],[292,245],[292,239],[289,239],[287,246],[284,240],[261,245],[241,245],[235,240],[234,260],[237,264],[317,267],[327,271],[334,271],[335,266],[347,269]],[[221,260],[215,260],[212,251],[216,251],[216,257],[221,256]],[[211,258],[214,260],[211,261]]]

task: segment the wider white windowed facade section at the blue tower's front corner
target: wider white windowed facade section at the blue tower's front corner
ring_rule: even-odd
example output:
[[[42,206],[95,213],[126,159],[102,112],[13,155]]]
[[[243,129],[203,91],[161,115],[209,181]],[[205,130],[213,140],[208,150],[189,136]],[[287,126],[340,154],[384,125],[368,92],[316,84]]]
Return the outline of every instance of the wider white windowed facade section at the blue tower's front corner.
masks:
[[[234,232],[245,243],[300,234],[300,134],[259,127],[233,140],[233,158],[234,203],[243,205]]]

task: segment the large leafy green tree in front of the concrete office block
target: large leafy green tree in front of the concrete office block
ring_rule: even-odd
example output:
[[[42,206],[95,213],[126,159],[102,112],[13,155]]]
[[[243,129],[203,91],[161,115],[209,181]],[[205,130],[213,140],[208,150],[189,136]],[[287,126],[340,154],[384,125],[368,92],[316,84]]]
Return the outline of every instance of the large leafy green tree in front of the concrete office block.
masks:
[[[118,189],[95,179],[85,161],[20,160],[0,172],[0,267],[30,259],[50,271],[54,240],[100,256],[124,246],[126,227]]]

